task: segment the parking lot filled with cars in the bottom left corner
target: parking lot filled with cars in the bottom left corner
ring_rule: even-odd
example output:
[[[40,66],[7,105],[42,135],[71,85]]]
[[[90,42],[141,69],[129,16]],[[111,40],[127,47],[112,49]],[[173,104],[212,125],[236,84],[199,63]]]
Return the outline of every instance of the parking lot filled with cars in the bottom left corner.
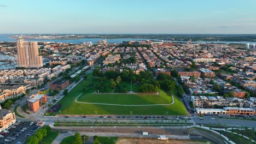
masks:
[[[1,133],[0,143],[25,143],[27,137],[32,135],[39,127],[36,124],[37,122],[19,122],[14,124],[7,130],[8,133]]]

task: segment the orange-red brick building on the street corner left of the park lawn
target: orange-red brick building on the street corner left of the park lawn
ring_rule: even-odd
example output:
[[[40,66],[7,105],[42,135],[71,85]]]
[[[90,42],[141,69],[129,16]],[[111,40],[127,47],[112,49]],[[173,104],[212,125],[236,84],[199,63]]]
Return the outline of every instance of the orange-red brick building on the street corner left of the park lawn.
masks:
[[[47,102],[47,97],[45,94],[34,94],[31,95],[30,98],[27,99],[27,106],[30,111],[37,111],[40,106],[42,106],[42,103]]]

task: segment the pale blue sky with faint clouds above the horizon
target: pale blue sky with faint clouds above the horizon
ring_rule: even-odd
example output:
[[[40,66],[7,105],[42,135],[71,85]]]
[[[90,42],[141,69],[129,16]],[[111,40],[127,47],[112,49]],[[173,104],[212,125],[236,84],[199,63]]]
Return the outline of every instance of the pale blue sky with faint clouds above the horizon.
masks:
[[[0,33],[256,34],[255,0],[0,0]]]

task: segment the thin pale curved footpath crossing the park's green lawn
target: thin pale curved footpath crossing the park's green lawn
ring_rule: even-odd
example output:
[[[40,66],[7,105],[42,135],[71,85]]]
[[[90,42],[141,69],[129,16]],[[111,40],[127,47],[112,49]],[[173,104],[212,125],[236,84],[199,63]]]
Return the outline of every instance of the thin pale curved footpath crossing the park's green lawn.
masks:
[[[77,99],[82,95],[83,93],[80,93],[77,98],[75,98],[75,102],[80,104],[95,104],[95,105],[115,105],[115,106],[157,106],[157,105],[173,105],[175,103],[174,97],[172,95],[172,103],[170,104],[150,104],[150,105],[121,105],[121,104],[106,104],[106,103],[87,103],[87,102],[81,102]]]

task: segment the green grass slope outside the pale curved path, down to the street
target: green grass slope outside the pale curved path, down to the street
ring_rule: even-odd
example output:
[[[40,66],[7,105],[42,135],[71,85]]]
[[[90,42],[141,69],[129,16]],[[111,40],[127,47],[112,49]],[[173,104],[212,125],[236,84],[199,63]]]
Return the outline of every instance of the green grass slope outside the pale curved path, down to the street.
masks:
[[[182,102],[174,97],[173,105],[156,105],[156,106],[114,106],[114,105],[96,105],[81,104],[75,102],[75,98],[82,93],[83,87],[89,87],[93,83],[93,76],[89,75],[88,79],[80,82],[72,89],[59,104],[61,104],[61,113],[67,115],[90,115],[97,112],[98,115],[186,115]],[[92,94],[94,88],[89,88],[83,92],[78,101],[89,103],[110,103],[110,104],[127,104],[127,105],[145,105],[145,104],[170,104],[172,98],[164,92],[160,95],[147,94]]]

